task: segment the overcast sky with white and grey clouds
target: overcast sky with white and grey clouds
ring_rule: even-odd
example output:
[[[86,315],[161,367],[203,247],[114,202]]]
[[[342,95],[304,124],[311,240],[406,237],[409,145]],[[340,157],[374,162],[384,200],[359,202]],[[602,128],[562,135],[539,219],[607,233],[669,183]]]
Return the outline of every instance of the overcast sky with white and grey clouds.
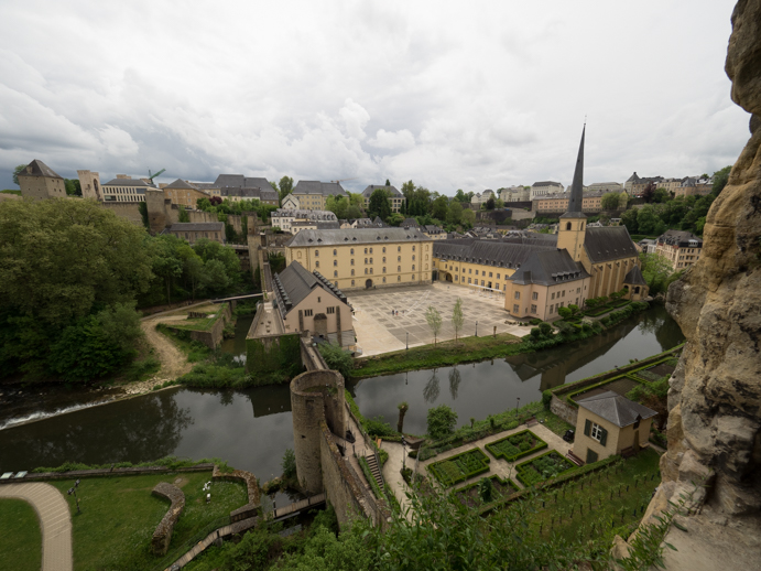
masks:
[[[41,159],[432,191],[735,162],[733,0],[2,0],[0,188]]]

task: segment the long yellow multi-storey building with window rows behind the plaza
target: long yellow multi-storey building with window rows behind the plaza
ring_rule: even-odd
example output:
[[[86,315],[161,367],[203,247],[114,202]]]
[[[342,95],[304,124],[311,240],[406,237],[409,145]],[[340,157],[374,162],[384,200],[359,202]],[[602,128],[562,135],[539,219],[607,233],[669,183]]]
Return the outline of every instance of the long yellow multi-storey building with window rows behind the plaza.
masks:
[[[285,261],[319,271],[341,290],[431,283],[433,240],[417,228],[303,230]]]

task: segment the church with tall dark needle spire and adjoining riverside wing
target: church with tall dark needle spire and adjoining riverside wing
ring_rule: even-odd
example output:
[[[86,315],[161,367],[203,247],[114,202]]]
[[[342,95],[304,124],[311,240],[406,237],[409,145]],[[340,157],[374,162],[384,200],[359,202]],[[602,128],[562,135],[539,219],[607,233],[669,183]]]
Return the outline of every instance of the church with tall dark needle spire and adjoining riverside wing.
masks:
[[[581,306],[589,298],[628,291],[641,300],[648,286],[639,268],[639,255],[626,226],[588,227],[581,212],[584,200],[584,139],[574,171],[568,209],[561,216],[554,251],[531,254],[508,279],[504,309],[514,317],[558,316],[559,308]]]

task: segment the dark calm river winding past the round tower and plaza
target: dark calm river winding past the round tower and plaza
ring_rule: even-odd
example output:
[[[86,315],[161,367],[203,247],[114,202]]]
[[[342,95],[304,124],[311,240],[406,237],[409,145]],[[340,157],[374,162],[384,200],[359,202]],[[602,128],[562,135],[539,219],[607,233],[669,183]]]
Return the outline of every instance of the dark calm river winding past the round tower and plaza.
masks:
[[[243,320],[238,328],[248,327]],[[240,332],[238,332],[240,333]],[[242,335],[244,337],[244,333]],[[430,407],[449,405],[459,424],[470,417],[541,399],[541,391],[666,351],[684,341],[662,306],[630,317],[604,335],[532,355],[411,371],[349,383],[365,416],[396,424],[406,401],[406,432],[424,433]],[[244,358],[240,335],[222,347]],[[262,481],[281,472],[293,448],[287,386],[247,390],[176,388],[90,407],[0,430],[0,472],[140,462],[165,455],[220,457]]]

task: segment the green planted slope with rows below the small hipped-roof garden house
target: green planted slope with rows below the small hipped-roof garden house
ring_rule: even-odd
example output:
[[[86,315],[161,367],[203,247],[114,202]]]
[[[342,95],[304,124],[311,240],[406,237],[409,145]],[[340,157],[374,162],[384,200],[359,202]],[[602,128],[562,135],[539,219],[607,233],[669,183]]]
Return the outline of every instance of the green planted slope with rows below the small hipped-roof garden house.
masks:
[[[653,477],[659,472],[659,460],[655,451],[644,450],[608,470],[587,475],[583,484],[569,482],[540,494],[533,525],[542,525],[544,537],[553,534],[574,540],[579,534],[584,539],[594,539],[611,529],[639,522],[642,507],[649,504],[660,483],[657,475]],[[637,482],[635,476],[640,476]]]

